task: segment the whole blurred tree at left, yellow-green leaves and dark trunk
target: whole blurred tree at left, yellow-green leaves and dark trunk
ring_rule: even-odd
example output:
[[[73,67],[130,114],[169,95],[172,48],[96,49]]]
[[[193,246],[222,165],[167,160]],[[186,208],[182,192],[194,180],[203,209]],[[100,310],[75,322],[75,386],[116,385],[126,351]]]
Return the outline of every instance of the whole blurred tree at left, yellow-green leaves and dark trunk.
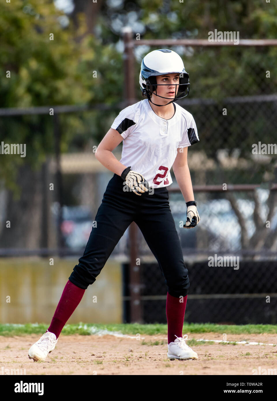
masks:
[[[30,107],[63,104],[86,104],[117,98],[118,81],[105,76],[108,60],[119,60],[112,46],[104,46],[91,34],[78,42],[87,26],[83,14],[78,15],[78,28],[53,2],[44,0],[0,4],[0,107]],[[121,66],[118,63],[117,76]],[[116,63],[114,71],[116,70]],[[104,78],[105,77],[105,80]],[[109,83],[110,80],[110,83]],[[103,85],[103,81],[105,85]],[[96,113],[95,113],[96,114]],[[61,115],[61,148],[68,144],[85,125],[95,127],[91,117]],[[92,133],[95,134],[95,128]],[[91,134],[91,133],[90,133]],[[53,115],[1,117],[0,144],[26,144],[26,157],[0,156],[0,182],[8,188],[9,205],[2,215],[0,243],[2,247],[34,247],[38,245],[42,221],[41,165],[47,155],[55,153]],[[45,189],[45,188],[44,188]],[[22,216],[23,215],[23,216]],[[3,229],[5,221],[10,229]]]

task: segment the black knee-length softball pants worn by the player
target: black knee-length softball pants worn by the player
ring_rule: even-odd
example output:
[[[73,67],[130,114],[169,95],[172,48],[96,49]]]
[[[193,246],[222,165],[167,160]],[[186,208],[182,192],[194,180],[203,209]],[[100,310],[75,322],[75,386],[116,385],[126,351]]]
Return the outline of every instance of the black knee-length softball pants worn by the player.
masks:
[[[154,188],[151,194],[153,188],[149,188],[148,192],[136,195],[131,190],[124,192],[124,186],[117,174],[109,180],[84,255],[69,280],[83,289],[93,284],[115,245],[134,221],[158,261],[169,294],[186,296],[190,286],[188,270],[169,206],[168,189]]]

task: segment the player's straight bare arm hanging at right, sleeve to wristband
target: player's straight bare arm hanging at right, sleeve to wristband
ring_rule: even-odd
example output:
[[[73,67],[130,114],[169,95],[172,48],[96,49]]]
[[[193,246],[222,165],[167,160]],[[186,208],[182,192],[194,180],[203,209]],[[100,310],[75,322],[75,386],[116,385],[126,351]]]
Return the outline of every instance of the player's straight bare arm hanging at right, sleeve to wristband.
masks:
[[[190,170],[188,169],[188,147],[177,149],[177,156],[172,168],[184,200],[186,202],[194,201]]]

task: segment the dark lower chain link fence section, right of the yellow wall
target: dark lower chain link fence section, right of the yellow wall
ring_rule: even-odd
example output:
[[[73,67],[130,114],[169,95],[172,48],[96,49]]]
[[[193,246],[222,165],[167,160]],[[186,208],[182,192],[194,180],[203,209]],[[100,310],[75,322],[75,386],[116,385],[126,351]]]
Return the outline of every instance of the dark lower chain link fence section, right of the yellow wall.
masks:
[[[239,269],[230,266],[209,267],[208,259],[188,262],[186,265],[190,288],[185,322],[276,324],[276,260],[240,261]],[[127,269],[126,266],[124,268]],[[124,277],[126,279],[126,275]],[[143,263],[141,278],[144,322],[166,323],[166,284],[158,265]],[[124,319],[129,322],[127,281],[124,289]]]

